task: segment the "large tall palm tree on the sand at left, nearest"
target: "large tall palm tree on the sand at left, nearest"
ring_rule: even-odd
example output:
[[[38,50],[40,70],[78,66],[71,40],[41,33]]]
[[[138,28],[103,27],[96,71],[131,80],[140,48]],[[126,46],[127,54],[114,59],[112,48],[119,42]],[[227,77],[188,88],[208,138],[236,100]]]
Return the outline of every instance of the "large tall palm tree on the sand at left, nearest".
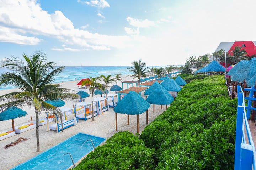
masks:
[[[9,69],[10,72],[1,73],[0,85],[15,86],[18,92],[0,96],[0,101],[6,102],[0,105],[0,110],[26,105],[34,109],[36,114],[36,152],[40,152],[39,114],[43,111],[61,114],[58,107],[46,103],[45,100],[75,99],[79,96],[72,93],[73,90],[52,84],[54,78],[62,73],[65,67],[55,68],[55,62],[46,62],[47,57],[42,51],[37,51],[30,57],[23,54],[22,57],[24,60],[11,56],[1,62],[1,67]]]

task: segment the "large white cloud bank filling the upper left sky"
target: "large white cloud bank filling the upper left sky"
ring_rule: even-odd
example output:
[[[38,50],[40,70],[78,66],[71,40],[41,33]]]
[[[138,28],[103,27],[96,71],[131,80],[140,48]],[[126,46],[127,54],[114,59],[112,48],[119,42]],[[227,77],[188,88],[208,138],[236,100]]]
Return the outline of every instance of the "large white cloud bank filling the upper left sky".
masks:
[[[109,50],[111,47],[125,47],[130,41],[128,36],[109,36],[76,29],[61,11],[49,14],[36,0],[0,1],[0,26],[2,24],[0,41],[16,44],[37,45],[40,39],[36,36],[43,35],[69,45]]]

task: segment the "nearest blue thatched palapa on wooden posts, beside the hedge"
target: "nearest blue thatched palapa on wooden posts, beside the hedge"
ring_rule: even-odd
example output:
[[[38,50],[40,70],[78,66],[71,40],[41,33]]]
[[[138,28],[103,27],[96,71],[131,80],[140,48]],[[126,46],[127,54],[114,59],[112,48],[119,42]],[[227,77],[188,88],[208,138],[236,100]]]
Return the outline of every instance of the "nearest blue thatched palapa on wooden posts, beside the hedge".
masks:
[[[143,87],[140,87],[143,88]],[[124,98],[114,107],[116,113],[116,131],[117,131],[117,113],[127,114],[127,123],[129,125],[129,115],[137,115],[137,133],[139,133],[139,114],[148,110],[150,104],[138,95],[135,91],[130,91]]]

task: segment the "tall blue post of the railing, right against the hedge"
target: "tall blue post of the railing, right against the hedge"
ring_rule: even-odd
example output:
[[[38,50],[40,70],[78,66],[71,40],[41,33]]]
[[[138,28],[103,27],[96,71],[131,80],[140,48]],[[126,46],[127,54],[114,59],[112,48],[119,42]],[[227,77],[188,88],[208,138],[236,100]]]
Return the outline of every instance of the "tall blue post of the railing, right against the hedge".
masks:
[[[236,116],[236,140],[235,140],[235,170],[240,168],[242,126],[244,117],[243,92],[238,92],[238,107]]]

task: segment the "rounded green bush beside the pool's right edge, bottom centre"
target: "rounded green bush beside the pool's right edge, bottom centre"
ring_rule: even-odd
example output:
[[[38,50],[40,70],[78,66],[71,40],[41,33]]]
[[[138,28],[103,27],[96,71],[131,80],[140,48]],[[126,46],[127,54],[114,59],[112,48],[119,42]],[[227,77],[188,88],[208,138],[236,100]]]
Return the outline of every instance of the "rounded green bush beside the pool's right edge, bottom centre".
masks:
[[[155,169],[154,149],[145,144],[131,132],[114,134],[105,145],[90,152],[74,169]]]

